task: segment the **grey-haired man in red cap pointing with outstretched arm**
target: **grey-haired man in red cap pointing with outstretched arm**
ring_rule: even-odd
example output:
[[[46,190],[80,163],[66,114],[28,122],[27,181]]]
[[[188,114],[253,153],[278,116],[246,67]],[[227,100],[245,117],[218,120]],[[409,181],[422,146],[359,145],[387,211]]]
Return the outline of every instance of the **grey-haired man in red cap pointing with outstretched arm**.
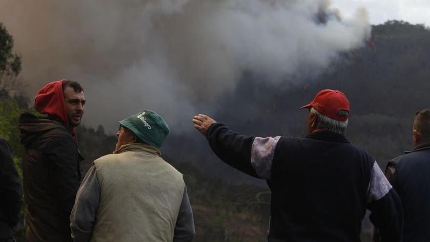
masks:
[[[322,90],[302,108],[309,109],[304,138],[245,136],[203,114],[193,123],[222,161],[267,180],[269,242],[359,242],[366,209],[382,241],[400,242],[400,199],[375,159],[345,138],[344,93]]]

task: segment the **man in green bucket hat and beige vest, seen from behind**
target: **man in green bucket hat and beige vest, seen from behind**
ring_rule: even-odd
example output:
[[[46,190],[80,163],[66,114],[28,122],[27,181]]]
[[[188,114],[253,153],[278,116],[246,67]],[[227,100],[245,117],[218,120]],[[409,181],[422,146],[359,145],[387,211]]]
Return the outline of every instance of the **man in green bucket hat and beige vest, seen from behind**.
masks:
[[[120,121],[113,154],[94,161],[70,216],[75,242],[188,242],[194,220],[182,174],[160,157],[169,133],[157,113]]]

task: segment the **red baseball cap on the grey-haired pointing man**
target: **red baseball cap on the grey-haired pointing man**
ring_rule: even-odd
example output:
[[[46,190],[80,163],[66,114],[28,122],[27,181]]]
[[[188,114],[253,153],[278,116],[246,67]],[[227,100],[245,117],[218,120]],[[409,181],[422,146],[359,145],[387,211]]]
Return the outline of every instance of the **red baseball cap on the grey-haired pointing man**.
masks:
[[[338,121],[346,121],[349,116],[349,101],[344,93],[338,90],[324,89],[317,93],[314,100],[302,109],[314,108],[323,115]],[[340,116],[339,111],[346,110],[346,116]]]

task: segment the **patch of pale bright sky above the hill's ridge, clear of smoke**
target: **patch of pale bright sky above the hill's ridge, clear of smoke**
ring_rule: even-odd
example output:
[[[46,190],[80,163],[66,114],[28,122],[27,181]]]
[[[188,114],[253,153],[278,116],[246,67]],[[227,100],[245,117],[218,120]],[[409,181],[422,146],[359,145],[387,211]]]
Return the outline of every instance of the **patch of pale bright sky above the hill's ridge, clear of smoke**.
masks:
[[[403,20],[430,26],[430,0],[332,0],[332,3],[345,16],[359,7],[366,8],[371,24]]]

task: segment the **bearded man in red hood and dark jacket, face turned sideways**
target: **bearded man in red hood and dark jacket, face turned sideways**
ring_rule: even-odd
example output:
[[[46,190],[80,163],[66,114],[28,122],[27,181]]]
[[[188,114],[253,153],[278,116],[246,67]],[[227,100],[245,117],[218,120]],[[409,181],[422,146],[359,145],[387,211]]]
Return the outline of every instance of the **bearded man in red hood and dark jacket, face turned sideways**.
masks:
[[[36,95],[34,106],[46,116],[25,112],[20,117],[29,242],[72,241],[69,217],[82,178],[83,160],[75,127],[81,121],[84,105],[82,87],[61,80],[47,84]]]

